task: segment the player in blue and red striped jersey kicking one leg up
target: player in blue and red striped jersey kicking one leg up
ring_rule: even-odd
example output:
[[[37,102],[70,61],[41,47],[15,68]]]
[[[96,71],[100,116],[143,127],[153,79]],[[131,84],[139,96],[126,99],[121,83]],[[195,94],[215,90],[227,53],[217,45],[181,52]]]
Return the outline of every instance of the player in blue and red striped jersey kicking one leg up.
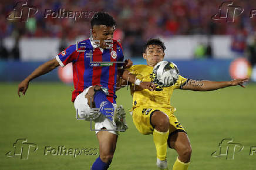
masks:
[[[18,86],[20,92],[25,94],[29,81],[46,74],[58,66],[64,67],[73,64],[72,102],[76,112],[85,120],[95,121],[97,140],[99,141],[100,156],[92,165],[92,170],[107,169],[112,162],[116,149],[116,124],[126,130],[123,108],[116,106],[116,83],[122,76],[123,68],[132,65],[130,60],[123,63],[123,49],[117,40],[113,40],[116,22],[108,13],[98,12],[90,21],[92,36],[90,39],[71,45],[60,52],[55,59],[39,66]],[[141,83],[143,89],[151,89],[150,82]],[[99,111],[92,110],[98,108]],[[100,114],[99,114],[100,113]],[[119,114],[119,119],[115,117]],[[114,118],[113,118],[114,117]]]

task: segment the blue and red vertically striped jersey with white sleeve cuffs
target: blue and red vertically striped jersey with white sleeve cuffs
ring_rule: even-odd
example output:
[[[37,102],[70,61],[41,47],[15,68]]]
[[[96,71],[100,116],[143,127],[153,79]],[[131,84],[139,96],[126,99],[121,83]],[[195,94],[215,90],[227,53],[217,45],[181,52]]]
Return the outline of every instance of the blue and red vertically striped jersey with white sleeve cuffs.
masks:
[[[67,47],[56,56],[60,66],[72,62],[73,83],[72,102],[84,89],[101,84],[109,90],[107,99],[116,103],[117,69],[123,66],[123,49],[117,40],[112,42],[113,49],[102,49],[90,39]],[[118,63],[116,63],[118,62]]]

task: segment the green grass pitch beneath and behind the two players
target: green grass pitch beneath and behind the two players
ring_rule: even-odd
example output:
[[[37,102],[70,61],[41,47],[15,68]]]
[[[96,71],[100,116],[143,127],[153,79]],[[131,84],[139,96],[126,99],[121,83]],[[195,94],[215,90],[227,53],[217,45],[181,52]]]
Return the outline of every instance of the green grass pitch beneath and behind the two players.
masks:
[[[21,98],[17,96],[17,87],[18,83],[0,84],[0,169],[89,169],[99,155],[44,155],[45,147],[98,148],[90,123],[76,120],[70,101],[72,87],[32,82]],[[129,130],[120,134],[109,169],[157,169],[152,136],[139,134],[128,113],[132,106],[129,91],[117,91],[117,96],[117,103],[126,108]],[[255,97],[255,84],[248,84],[246,89],[174,91],[171,104],[177,108],[175,115],[186,128],[193,148],[188,169],[256,169],[256,152],[250,155],[251,147],[256,150]],[[31,150],[28,159],[19,155],[6,157],[7,152],[14,151],[13,144],[19,138],[38,145],[38,150]],[[211,157],[224,138],[244,146],[241,152],[235,151],[233,160]],[[169,167],[176,157],[176,152],[168,149]]]

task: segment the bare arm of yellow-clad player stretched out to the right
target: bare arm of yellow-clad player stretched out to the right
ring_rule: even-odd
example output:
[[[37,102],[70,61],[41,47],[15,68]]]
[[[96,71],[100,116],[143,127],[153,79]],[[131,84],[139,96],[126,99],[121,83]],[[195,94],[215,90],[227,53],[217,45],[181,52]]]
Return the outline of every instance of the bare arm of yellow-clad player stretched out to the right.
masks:
[[[182,89],[194,91],[211,91],[237,85],[245,88],[245,81],[248,81],[248,79],[234,79],[231,81],[188,80]]]

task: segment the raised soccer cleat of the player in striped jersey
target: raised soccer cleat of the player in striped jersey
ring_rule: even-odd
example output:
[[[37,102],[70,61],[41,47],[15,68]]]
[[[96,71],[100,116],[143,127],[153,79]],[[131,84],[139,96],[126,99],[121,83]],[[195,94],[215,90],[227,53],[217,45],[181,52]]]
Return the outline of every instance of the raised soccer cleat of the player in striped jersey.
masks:
[[[126,124],[125,111],[122,105],[116,108],[113,115],[113,120],[116,123],[117,130],[124,132],[127,130],[128,126]]]

